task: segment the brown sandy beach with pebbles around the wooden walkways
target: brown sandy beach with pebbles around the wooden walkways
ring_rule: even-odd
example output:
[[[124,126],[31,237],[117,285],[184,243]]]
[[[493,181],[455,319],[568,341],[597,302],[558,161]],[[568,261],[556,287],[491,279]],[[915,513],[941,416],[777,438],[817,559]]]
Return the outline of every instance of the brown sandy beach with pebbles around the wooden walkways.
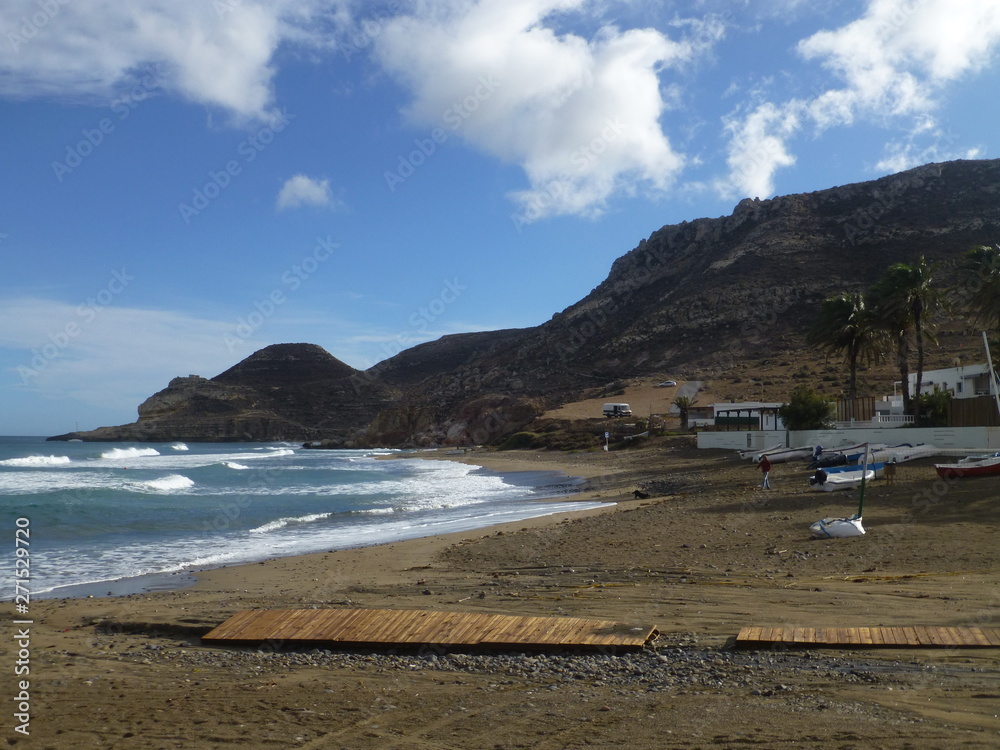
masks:
[[[689,438],[632,451],[422,454],[588,478],[617,503],[220,568],[188,588],[31,604],[32,748],[994,748],[1000,649],[735,651],[744,626],[1000,624],[1000,487],[931,461],[869,488],[868,534],[815,541],[856,493],[773,489]],[[633,490],[650,495],[635,500]],[[635,655],[221,649],[250,608],[385,607],[649,624]],[[13,619],[13,618],[12,618]],[[8,647],[8,663],[11,654]],[[7,696],[18,686],[8,670]],[[8,712],[9,713],[9,712]]]

